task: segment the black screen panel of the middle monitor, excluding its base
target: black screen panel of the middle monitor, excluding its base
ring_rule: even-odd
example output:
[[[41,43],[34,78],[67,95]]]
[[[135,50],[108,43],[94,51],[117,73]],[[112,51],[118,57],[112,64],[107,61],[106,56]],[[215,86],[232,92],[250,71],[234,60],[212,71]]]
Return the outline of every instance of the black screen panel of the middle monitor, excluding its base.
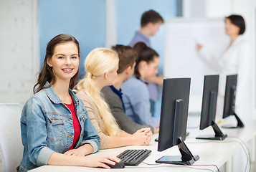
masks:
[[[204,130],[215,121],[218,87],[219,75],[204,76],[200,130]]]

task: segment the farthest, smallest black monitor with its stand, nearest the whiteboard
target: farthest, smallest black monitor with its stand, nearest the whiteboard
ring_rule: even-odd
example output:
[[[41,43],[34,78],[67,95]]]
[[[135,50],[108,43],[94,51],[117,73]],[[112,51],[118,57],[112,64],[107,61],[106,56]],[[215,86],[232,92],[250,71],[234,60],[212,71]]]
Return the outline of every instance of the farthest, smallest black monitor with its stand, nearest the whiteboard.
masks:
[[[235,97],[237,91],[237,75],[227,75],[226,80],[226,91],[224,97],[224,109],[223,117],[227,118],[230,115],[234,115],[237,119],[237,126],[222,126],[222,128],[243,128],[245,125],[242,123],[242,120],[235,113]]]

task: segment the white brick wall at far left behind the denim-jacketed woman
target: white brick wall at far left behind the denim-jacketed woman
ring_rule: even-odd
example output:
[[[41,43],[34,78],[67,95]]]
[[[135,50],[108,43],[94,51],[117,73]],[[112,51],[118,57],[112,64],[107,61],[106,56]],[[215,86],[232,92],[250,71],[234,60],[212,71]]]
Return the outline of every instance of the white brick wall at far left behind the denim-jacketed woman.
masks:
[[[0,1],[0,102],[24,104],[39,69],[37,1]]]

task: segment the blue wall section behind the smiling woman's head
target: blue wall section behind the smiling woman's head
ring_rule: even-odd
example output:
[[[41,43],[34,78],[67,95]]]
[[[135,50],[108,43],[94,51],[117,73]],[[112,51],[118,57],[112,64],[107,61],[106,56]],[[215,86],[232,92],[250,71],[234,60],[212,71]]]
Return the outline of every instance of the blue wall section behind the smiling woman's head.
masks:
[[[95,47],[105,46],[105,0],[39,0],[40,64],[47,43],[57,34],[71,34],[80,43],[80,77]]]

